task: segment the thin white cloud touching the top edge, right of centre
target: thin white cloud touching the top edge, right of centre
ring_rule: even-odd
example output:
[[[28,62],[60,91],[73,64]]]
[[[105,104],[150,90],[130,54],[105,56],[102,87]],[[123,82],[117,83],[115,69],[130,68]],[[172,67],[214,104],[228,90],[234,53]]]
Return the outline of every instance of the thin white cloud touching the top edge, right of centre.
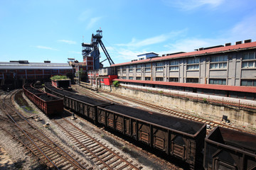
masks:
[[[201,6],[215,8],[223,4],[225,0],[162,0],[167,6],[180,8],[184,11],[193,10]]]

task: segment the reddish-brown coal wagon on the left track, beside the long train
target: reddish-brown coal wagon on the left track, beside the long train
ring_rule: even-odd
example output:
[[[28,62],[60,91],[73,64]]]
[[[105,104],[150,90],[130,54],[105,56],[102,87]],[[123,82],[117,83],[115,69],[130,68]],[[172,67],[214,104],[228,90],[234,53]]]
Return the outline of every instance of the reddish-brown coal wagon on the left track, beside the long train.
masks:
[[[53,115],[63,113],[63,99],[57,98],[43,91],[34,89],[28,84],[23,86],[24,94],[34,103],[38,108],[46,113],[46,115]]]

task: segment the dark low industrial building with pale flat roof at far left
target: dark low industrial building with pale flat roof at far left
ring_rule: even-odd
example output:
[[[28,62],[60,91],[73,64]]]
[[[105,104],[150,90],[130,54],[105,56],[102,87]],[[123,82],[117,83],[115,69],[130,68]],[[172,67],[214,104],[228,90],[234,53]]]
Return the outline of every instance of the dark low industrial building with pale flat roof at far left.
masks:
[[[48,81],[55,75],[66,75],[73,79],[74,73],[73,67],[68,63],[28,62],[28,60],[0,62],[0,81],[4,88],[21,87],[25,82],[37,80]]]

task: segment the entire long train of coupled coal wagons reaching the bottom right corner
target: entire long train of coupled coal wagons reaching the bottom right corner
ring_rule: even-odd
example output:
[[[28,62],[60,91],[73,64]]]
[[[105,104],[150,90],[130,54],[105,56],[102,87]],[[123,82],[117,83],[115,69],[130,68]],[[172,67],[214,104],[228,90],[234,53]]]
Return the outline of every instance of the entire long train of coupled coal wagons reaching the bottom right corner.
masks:
[[[198,162],[206,170],[256,169],[256,135],[215,128],[206,137],[206,124],[203,123],[116,103],[97,103],[94,98],[62,91],[49,84],[46,84],[46,91],[63,98],[66,108],[152,149],[181,159],[191,169]],[[94,100],[96,103],[92,102]]]

